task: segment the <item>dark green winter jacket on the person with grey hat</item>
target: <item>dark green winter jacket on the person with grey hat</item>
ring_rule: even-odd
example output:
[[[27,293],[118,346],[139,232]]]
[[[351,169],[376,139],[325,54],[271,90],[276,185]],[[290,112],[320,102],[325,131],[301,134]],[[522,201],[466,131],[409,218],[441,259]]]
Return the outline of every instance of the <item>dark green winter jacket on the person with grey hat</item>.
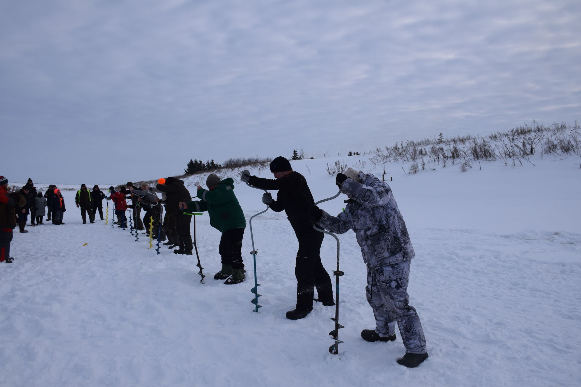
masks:
[[[199,189],[201,200],[188,201],[188,211],[207,211],[210,215],[210,226],[221,233],[232,229],[246,227],[244,213],[234,194],[234,180],[224,179],[213,190]]]

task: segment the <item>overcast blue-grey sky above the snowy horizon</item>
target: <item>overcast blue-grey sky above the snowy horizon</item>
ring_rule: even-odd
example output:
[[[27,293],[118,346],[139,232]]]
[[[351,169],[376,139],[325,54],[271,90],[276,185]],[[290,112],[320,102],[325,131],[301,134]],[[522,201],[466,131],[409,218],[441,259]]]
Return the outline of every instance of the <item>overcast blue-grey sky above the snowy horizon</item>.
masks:
[[[0,0],[0,175],[14,182],[576,118],[579,0]]]

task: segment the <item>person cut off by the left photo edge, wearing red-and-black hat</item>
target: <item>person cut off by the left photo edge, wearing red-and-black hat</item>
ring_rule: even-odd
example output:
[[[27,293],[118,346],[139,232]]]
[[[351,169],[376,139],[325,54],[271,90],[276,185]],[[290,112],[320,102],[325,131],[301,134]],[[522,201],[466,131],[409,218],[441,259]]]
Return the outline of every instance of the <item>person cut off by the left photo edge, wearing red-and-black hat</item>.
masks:
[[[16,227],[17,206],[26,204],[26,197],[17,193],[8,193],[8,179],[0,176],[0,263],[12,263],[10,242],[12,230]]]

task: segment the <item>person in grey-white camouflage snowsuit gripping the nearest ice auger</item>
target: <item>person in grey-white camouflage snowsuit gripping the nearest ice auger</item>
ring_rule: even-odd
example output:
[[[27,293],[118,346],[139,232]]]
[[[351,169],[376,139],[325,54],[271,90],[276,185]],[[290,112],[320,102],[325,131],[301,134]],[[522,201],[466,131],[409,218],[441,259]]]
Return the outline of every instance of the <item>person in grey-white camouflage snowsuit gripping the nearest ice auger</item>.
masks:
[[[336,183],[349,196],[345,210],[331,216],[313,206],[309,214],[330,232],[353,230],[356,234],[367,265],[367,301],[376,321],[375,330],[364,330],[361,337],[366,341],[393,341],[397,322],[406,346],[406,356],[397,362],[416,367],[428,353],[418,313],[409,305],[407,294],[410,261],[415,254],[392,190],[371,173],[352,168],[339,173]]]

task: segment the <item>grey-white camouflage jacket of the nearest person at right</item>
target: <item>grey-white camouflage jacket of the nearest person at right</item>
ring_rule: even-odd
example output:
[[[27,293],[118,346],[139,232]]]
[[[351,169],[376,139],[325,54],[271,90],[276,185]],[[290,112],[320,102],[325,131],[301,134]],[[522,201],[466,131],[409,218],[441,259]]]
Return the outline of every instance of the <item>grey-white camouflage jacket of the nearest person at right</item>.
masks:
[[[414,258],[406,222],[388,183],[371,173],[359,172],[357,177],[363,183],[348,178],[340,187],[354,201],[338,216],[323,211],[317,223],[337,234],[353,230],[363,261],[371,267],[389,266]]]

